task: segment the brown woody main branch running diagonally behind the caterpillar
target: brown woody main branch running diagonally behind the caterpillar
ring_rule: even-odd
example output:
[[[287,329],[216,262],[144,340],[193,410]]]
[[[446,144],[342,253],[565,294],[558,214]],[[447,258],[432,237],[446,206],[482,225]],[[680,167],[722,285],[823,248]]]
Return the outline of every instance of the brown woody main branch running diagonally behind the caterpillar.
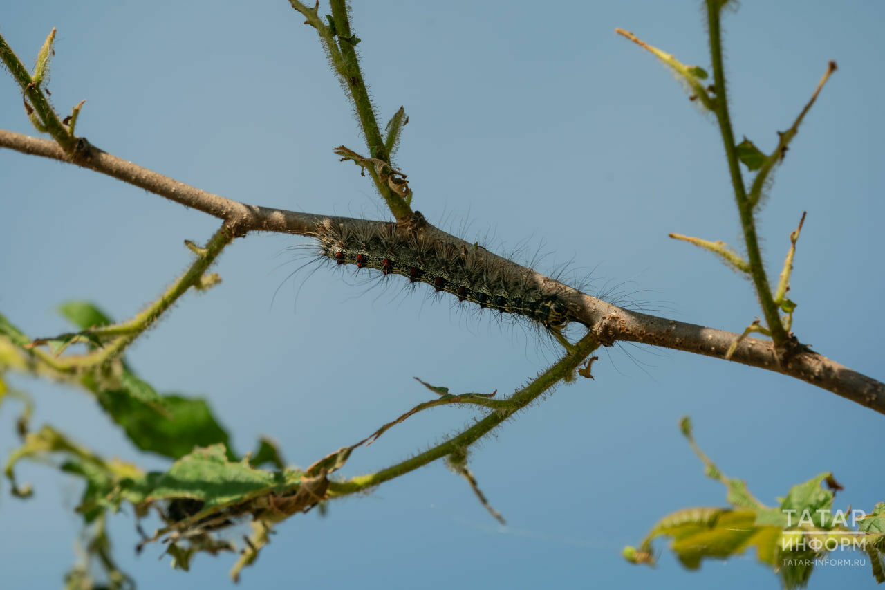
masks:
[[[235,235],[239,237],[252,231],[273,231],[312,237],[316,233],[317,226],[326,220],[343,224],[345,227],[390,223],[247,205],[196,189],[184,182],[120,159],[96,148],[82,138],[73,156],[69,157],[54,142],[0,129],[0,147],[86,167],[144,190],[150,190],[183,206],[226,221],[228,227],[234,229]],[[440,242],[472,247],[464,240],[432,225],[427,224],[423,230]],[[483,252],[483,255],[487,256],[489,264],[495,265],[496,268],[500,265],[512,267],[513,272],[525,273],[539,284],[549,285],[551,289],[565,292],[575,303],[576,319],[588,326],[602,345],[613,345],[618,341],[636,342],[723,359],[728,347],[740,336],[734,332],[622,309],[492,252]],[[796,377],[885,414],[885,384],[844,367],[805,346],[798,346],[796,350],[779,358],[773,342],[758,338],[743,338],[732,354],[731,360],[750,367]]]

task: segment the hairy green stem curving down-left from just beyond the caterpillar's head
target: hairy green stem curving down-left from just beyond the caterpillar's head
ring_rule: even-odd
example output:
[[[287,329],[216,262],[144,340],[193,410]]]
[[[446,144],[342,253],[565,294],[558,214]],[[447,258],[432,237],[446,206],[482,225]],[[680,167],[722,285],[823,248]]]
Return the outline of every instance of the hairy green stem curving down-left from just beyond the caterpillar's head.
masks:
[[[366,488],[379,485],[394,477],[402,476],[412,470],[442,459],[446,455],[463,452],[467,446],[472,445],[477,440],[492,431],[498,424],[510,418],[520,409],[525,408],[538,396],[543,394],[563,379],[569,379],[573,375],[581,362],[599,346],[599,342],[593,333],[581,338],[571,353],[566,354],[562,360],[547,369],[538,376],[535,381],[528,384],[525,388],[515,392],[507,401],[510,402],[506,408],[500,408],[495,412],[487,415],[478,423],[473,424],[466,431],[446,440],[445,442],[434,446],[433,448],[418,454],[404,462],[396,463],[387,469],[376,471],[364,476],[352,477],[346,481],[330,482],[329,493],[332,496],[340,496],[348,493],[356,493]]]

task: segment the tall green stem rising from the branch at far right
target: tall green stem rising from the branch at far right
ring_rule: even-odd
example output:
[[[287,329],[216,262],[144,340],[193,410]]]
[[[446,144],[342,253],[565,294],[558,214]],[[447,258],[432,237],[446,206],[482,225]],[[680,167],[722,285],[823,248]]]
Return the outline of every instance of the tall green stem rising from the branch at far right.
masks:
[[[713,83],[716,88],[715,113],[719,120],[722,141],[725,144],[725,153],[728,160],[728,172],[731,175],[731,183],[735,188],[735,200],[737,209],[741,215],[743,227],[743,239],[747,246],[747,258],[750,262],[750,276],[756,286],[756,293],[762,313],[766,317],[768,330],[771,330],[775,345],[781,345],[789,338],[787,331],[781,324],[781,316],[778,307],[772,298],[771,287],[768,284],[766,268],[762,262],[762,253],[759,251],[758,237],[756,235],[756,222],[753,219],[753,206],[747,198],[747,191],[743,186],[743,175],[739,167],[737,151],[735,150],[735,135],[731,128],[731,119],[728,114],[728,100],[725,87],[725,71],[722,66],[722,33],[720,28],[720,0],[706,0],[707,4],[707,27],[710,32],[710,54],[713,66]]]

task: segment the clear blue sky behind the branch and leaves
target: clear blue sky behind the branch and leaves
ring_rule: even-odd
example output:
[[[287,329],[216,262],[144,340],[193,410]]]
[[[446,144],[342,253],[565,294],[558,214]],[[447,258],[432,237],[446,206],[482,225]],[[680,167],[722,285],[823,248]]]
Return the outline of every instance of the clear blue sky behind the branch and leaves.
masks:
[[[674,319],[740,331],[759,314],[750,283],[669,232],[739,244],[720,137],[666,69],[615,35],[634,31],[708,66],[699,2],[356,3],[353,24],[382,120],[410,117],[397,164],[431,222],[497,252],[549,252],[591,292]],[[284,0],[0,5],[0,31],[31,63],[58,27],[50,90],[78,132],[124,159],[252,204],[387,218],[368,179],[332,149],[363,151],[313,30]],[[781,268],[803,211],[791,299],[804,343],[879,379],[885,115],[885,4],[744,2],[726,19],[735,133],[764,150],[839,65],[777,172],[759,229]],[[0,128],[32,133],[12,79]],[[0,151],[0,311],[33,335],[64,331],[55,307],[91,299],[135,313],[186,266],[182,240],[217,221],[102,175]],[[335,268],[291,276],[306,242],[250,236],[215,268],[224,282],[189,294],[129,352],[164,392],[212,400],[240,451],[267,434],[306,465],[426,400],[412,377],[452,392],[512,392],[556,353],[531,330],[400,291],[366,292]],[[357,284],[354,284],[357,283]],[[279,288],[279,291],[277,289]],[[275,294],[275,297],[274,297]],[[297,297],[296,297],[297,296]],[[560,388],[471,456],[500,527],[466,483],[435,463],[326,517],[279,527],[243,588],[777,587],[748,553],[684,571],[663,552],[633,567],[620,549],[678,508],[725,505],[677,422],[773,505],[833,471],[835,505],[885,501],[882,416],[788,377],[709,358],[626,346],[603,351],[596,380]],[[106,454],[139,454],[79,391],[19,379],[34,424],[52,423]],[[0,408],[0,452],[17,409]],[[473,420],[440,408],[356,452],[345,475],[396,462]],[[73,562],[80,483],[23,465],[31,501],[0,484],[3,586],[58,587]],[[171,571],[161,547],[135,556],[131,511],[112,521],[124,570],[142,587],[227,587],[230,556]],[[658,546],[659,548],[662,546]],[[853,556],[853,555],[852,555]],[[869,568],[822,568],[811,587],[872,586]]]

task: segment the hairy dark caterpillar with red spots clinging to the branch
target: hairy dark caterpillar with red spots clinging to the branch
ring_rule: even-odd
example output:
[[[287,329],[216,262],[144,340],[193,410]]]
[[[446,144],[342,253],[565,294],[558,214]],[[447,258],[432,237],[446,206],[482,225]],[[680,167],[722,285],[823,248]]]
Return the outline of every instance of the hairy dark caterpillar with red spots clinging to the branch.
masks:
[[[427,237],[421,230],[426,224],[419,212],[407,229],[397,228],[395,223],[345,226],[326,219],[319,223],[314,237],[319,241],[319,255],[339,265],[373,268],[385,276],[427,283],[437,293],[447,292],[458,301],[502,314],[524,316],[548,330],[579,321],[561,287],[541,283],[525,268],[519,272],[514,270],[519,267],[489,264],[489,252],[480,245]]]

